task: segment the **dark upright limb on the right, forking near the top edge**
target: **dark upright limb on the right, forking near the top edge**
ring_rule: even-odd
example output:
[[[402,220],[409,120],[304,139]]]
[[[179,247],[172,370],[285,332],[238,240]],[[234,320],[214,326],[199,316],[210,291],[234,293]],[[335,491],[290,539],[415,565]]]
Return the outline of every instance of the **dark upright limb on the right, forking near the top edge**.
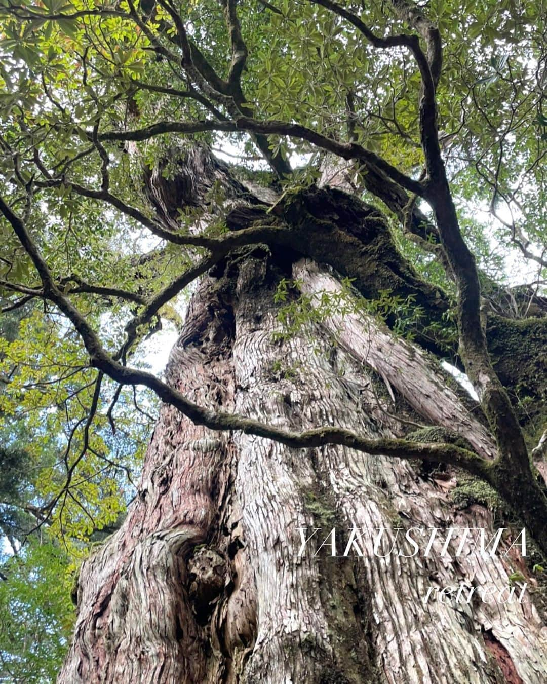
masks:
[[[399,16],[417,27],[418,31],[425,36],[428,44],[428,60],[421,51],[416,36],[377,38],[371,34],[366,25],[362,25],[360,19],[336,3],[332,3],[331,0],[313,1],[332,9],[341,16],[345,16],[364,34],[371,44],[377,47],[390,47],[390,42],[391,44],[406,44],[416,59],[422,78],[419,107],[420,131],[429,179],[425,195],[420,192],[412,192],[418,196],[425,196],[435,212],[442,248],[458,288],[460,352],[496,437],[501,458],[518,466],[519,469],[529,471],[529,456],[522,430],[509,397],[496,376],[488,354],[480,316],[481,296],[477,267],[459,229],[457,213],[442,160],[438,140],[436,105],[436,81],[440,75],[442,61],[438,31],[423,18],[419,10],[408,5],[406,0],[393,0],[392,4]],[[380,167],[378,166],[378,168]],[[386,175],[399,183],[401,187],[408,189],[408,185],[400,183],[392,174]]]

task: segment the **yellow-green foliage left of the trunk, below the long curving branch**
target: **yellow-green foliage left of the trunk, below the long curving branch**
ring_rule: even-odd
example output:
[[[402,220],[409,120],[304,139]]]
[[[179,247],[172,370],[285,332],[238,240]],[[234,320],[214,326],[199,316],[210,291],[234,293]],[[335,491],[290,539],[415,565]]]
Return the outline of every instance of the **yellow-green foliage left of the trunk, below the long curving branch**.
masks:
[[[0,430],[6,444],[25,435],[19,443],[33,504],[51,512],[51,538],[81,556],[83,542],[125,510],[153,420],[136,402],[150,414],[155,401],[131,389],[118,396],[103,379],[95,402],[98,373],[57,317],[36,308],[15,336],[0,339],[0,376],[9,378],[0,391]]]

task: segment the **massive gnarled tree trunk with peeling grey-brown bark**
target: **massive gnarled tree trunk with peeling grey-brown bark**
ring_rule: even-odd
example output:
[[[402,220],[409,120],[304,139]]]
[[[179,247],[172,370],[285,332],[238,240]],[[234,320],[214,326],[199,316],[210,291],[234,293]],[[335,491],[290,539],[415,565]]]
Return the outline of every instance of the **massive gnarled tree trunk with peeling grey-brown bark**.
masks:
[[[289,430],[396,434],[362,364],[361,321],[347,317],[338,328],[346,349],[317,326],[280,343],[272,294],[286,263],[257,251],[223,270],[191,301],[171,386]],[[409,400],[423,378],[438,389],[431,402],[444,401],[426,360],[411,368]],[[492,515],[477,505],[455,511],[449,493],[405,460],[213,432],[164,406],[124,525],[81,568],[75,638],[58,681],[519,681],[505,679],[510,671],[542,683],[546,629],[529,596],[505,605],[421,600],[429,586],[503,588],[514,570],[508,558],[294,557],[298,527],[358,527],[367,544],[386,527],[390,544],[397,527],[451,526],[492,534]],[[493,657],[490,634],[503,657]]]

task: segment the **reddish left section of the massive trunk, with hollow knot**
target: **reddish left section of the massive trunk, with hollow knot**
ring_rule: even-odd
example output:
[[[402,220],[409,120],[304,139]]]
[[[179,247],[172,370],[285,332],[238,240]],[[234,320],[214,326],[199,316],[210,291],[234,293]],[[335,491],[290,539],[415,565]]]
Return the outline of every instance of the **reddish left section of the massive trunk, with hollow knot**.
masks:
[[[207,285],[190,307],[169,380],[196,401],[228,408],[231,323],[206,308],[223,311]],[[254,635],[254,587],[230,492],[234,453],[228,433],[163,406],[124,525],[81,568],[59,682],[216,682],[243,657]]]

